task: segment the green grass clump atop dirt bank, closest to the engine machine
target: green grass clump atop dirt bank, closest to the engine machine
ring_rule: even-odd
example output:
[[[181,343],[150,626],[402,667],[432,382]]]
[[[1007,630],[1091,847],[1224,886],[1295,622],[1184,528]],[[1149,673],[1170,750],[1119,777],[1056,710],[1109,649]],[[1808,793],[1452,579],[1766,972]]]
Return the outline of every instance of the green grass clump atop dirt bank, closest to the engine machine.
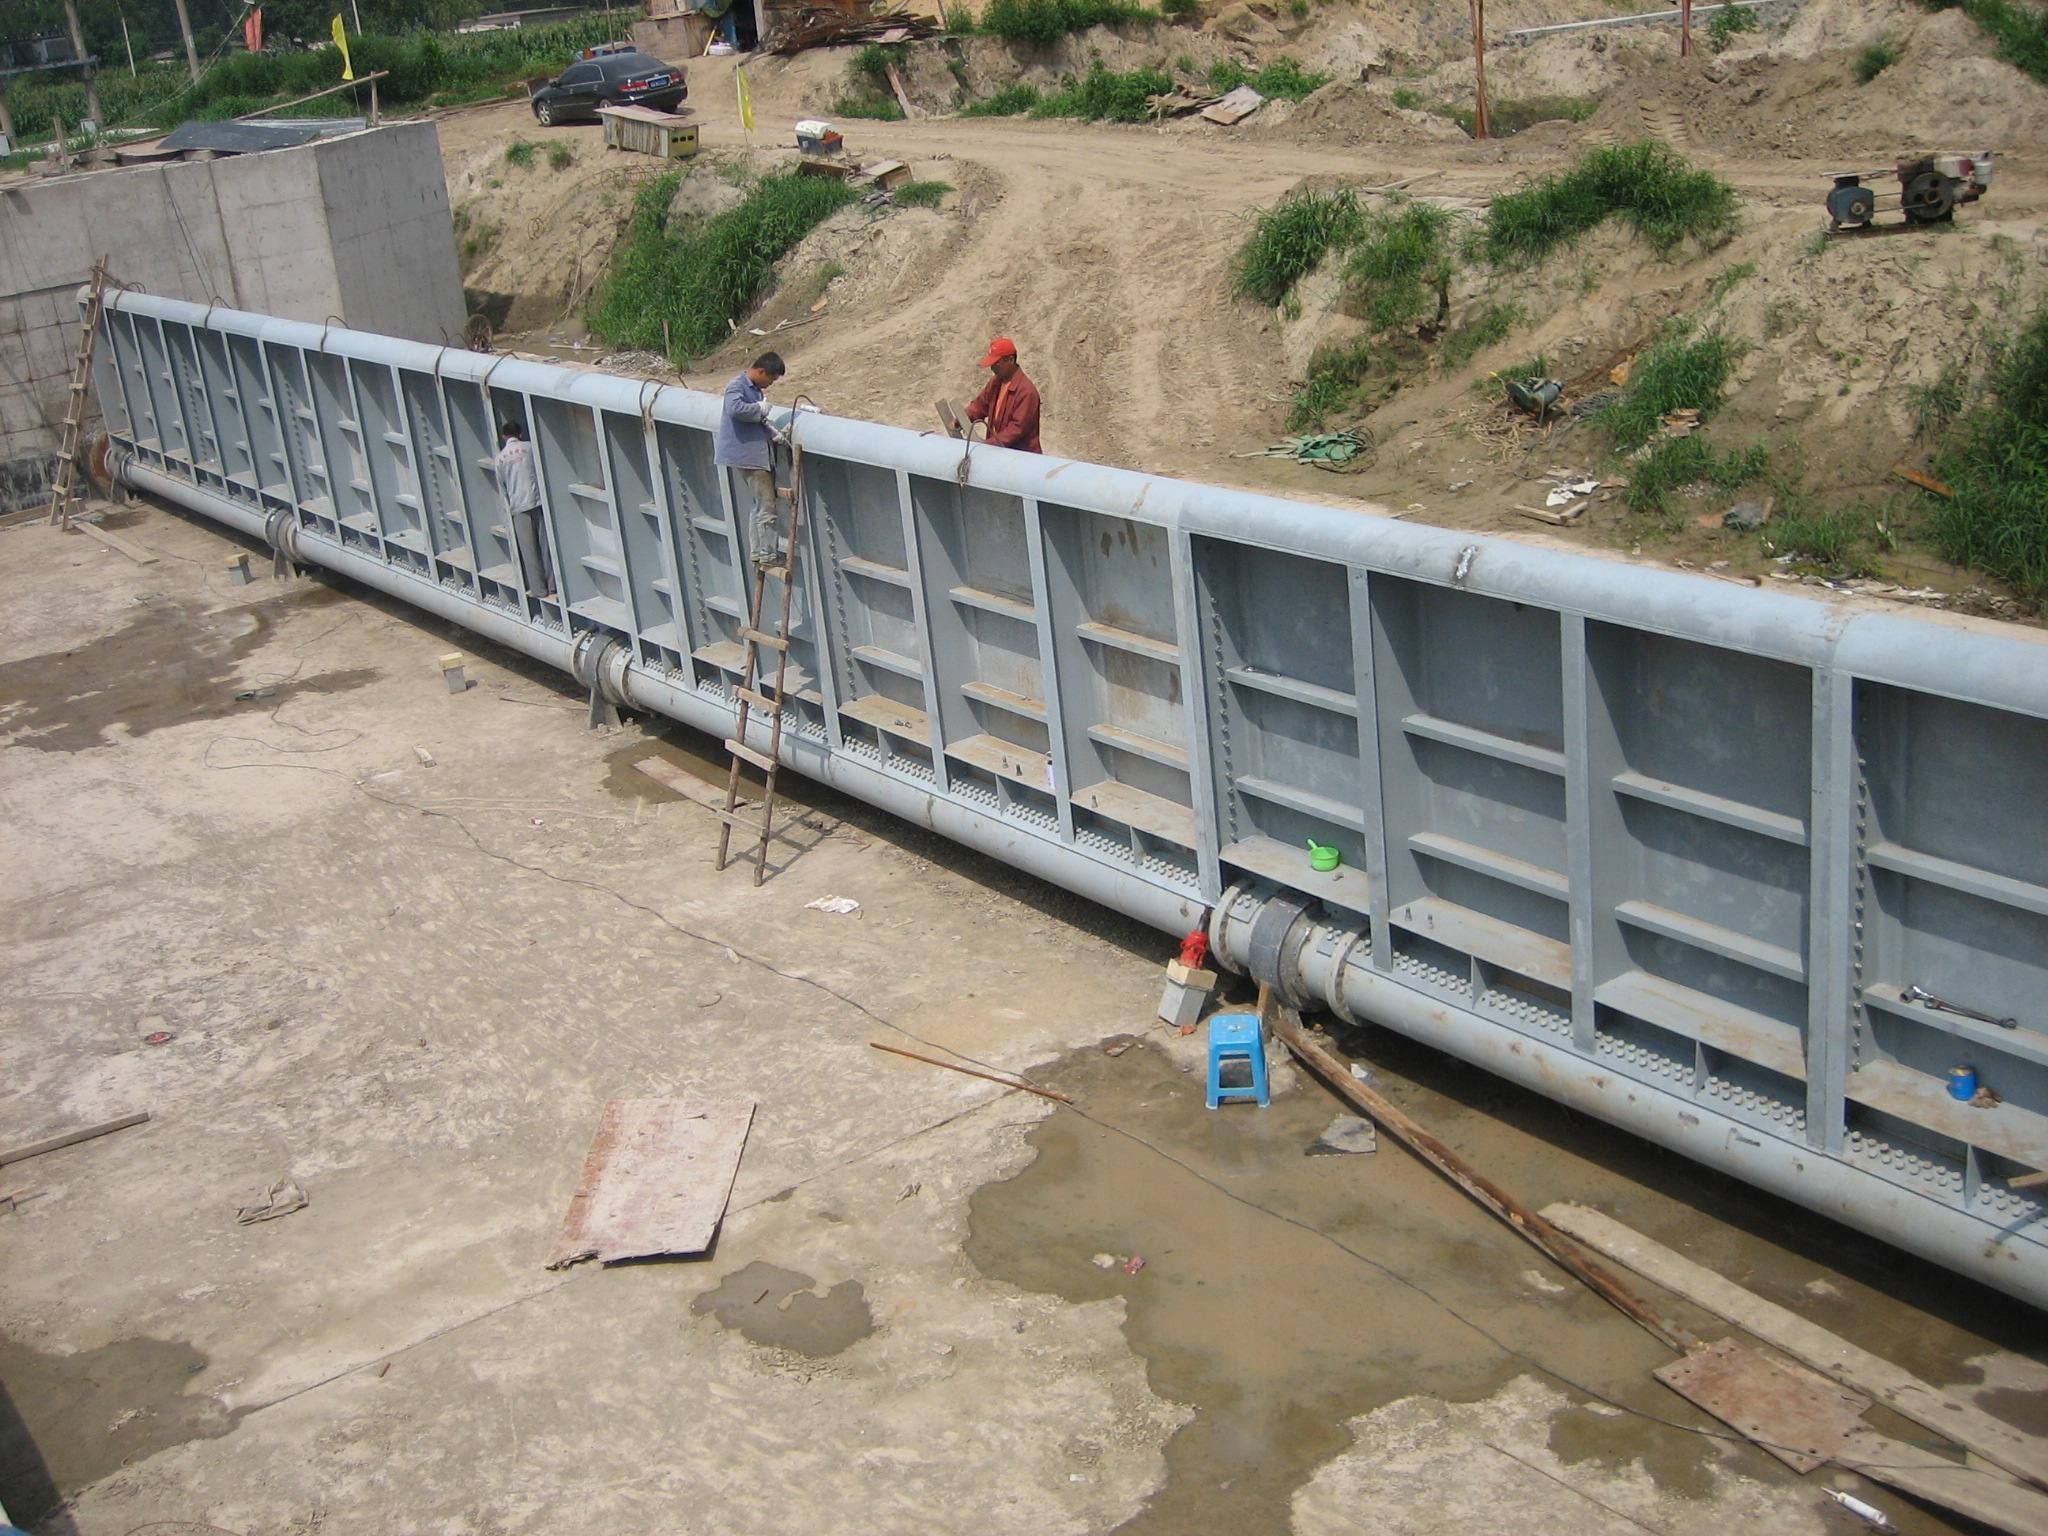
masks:
[[[1483,248],[1495,266],[1540,262],[1608,219],[1622,219],[1669,254],[1686,240],[1706,244],[1733,229],[1735,188],[1653,139],[1606,145],[1495,199]]]

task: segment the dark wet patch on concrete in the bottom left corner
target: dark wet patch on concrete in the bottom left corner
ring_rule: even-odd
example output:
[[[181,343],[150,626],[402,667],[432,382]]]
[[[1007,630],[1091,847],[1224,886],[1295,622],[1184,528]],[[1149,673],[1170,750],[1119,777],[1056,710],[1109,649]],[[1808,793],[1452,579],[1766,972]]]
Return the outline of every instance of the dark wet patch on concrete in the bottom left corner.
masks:
[[[0,1489],[29,1524],[127,1462],[211,1440],[240,1415],[186,1382],[207,1356],[170,1339],[121,1339],[59,1356],[0,1339]]]

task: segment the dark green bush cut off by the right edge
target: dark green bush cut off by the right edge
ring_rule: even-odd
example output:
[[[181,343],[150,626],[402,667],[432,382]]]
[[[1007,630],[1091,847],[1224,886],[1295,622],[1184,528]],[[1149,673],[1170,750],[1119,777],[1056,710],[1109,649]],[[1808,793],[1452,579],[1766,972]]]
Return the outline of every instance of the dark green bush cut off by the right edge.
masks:
[[[2048,602],[2048,307],[1993,346],[1991,393],[1935,455],[1954,500],[1933,504],[1935,547]]]

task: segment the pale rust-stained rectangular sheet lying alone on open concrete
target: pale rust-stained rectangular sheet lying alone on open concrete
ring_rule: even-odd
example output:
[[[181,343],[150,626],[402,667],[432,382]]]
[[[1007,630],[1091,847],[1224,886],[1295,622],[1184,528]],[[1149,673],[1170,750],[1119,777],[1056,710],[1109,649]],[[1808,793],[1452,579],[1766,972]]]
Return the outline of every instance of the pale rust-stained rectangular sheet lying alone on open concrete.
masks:
[[[752,1102],[610,1100],[547,1268],[709,1249],[752,1122]]]

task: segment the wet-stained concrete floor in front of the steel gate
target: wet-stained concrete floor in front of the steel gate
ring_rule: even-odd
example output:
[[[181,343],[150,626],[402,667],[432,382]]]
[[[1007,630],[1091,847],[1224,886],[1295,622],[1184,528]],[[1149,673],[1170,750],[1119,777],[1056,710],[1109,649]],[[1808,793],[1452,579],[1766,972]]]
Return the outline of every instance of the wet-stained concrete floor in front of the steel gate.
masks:
[[[0,1178],[37,1532],[1839,1528],[1399,1147],[1307,1157],[1313,1079],[1204,1110],[1161,936],[801,780],[776,879],[717,874],[631,768],[715,770],[700,737],[588,731],[565,678],[356,590],[233,588],[182,516],[123,532],[158,563],[0,532],[0,1126],[154,1114]],[[1346,1042],[1530,1204],[2048,1413],[2023,1325],[1942,1276]],[[758,1104],[717,1245],[547,1272],[625,1096]],[[281,1178],[309,1204],[236,1225]]]

